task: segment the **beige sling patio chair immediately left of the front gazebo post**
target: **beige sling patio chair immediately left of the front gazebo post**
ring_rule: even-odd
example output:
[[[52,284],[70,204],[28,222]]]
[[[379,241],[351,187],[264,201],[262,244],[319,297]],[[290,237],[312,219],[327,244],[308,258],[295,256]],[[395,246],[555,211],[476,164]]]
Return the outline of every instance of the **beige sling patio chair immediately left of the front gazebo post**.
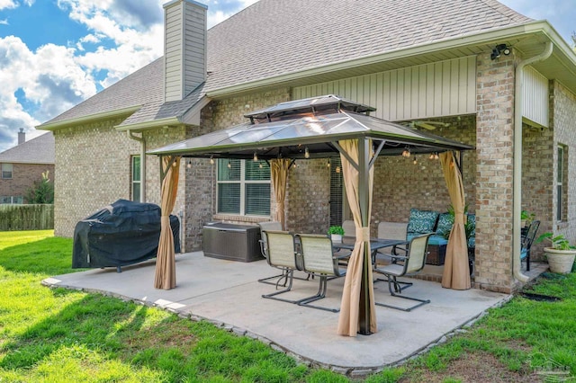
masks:
[[[320,277],[318,292],[311,297],[301,299],[298,304],[338,313],[340,308],[314,306],[311,305],[311,302],[326,297],[329,279],[346,275],[346,270],[340,269],[338,261],[343,257],[350,256],[350,254],[335,256],[332,250],[332,240],[329,236],[299,234],[296,239],[299,240],[301,245],[304,272]]]

